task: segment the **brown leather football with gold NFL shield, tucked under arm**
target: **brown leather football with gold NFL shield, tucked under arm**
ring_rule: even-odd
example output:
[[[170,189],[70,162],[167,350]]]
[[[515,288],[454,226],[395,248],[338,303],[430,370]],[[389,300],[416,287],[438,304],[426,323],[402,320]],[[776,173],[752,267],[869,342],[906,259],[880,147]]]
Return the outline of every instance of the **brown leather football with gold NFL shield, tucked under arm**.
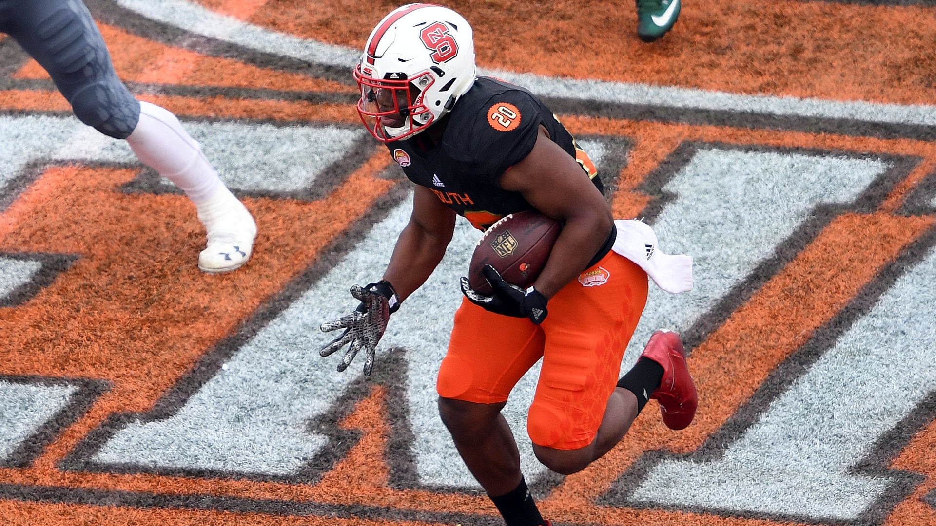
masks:
[[[468,284],[479,294],[490,295],[493,290],[481,272],[490,264],[511,285],[533,285],[562,229],[559,221],[533,210],[506,215],[477,241]]]

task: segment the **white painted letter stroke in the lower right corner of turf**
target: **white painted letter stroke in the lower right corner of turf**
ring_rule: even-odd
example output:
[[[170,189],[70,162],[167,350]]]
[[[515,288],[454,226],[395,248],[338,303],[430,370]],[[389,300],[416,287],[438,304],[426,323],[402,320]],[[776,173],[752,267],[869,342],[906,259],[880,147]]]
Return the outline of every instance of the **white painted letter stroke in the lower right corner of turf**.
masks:
[[[664,460],[643,504],[858,518],[894,484],[853,473],[878,438],[936,390],[936,250],[904,274],[717,460]]]

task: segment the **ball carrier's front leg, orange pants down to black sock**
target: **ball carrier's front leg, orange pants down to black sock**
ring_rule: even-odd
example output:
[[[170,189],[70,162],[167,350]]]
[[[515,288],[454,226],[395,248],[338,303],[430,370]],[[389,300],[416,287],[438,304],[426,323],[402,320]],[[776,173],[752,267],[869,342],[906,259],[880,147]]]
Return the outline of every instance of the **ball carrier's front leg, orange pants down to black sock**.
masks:
[[[510,390],[543,355],[543,332],[525,318],[491,314],[464,300],[436,388],[439,414],[468,470],[507,526],[548,524],[520,472],[501,410]]]

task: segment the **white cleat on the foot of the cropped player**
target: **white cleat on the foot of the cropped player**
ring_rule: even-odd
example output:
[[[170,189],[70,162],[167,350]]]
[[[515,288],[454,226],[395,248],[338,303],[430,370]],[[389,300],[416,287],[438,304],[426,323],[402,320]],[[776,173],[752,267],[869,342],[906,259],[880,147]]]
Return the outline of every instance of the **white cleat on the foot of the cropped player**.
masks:
[[[208,231],[208,245],[198,255],[198,270],[203,272],[239,269],[254,248],[254,217],[237,197],[226,194],[198,209],[198,220]]]

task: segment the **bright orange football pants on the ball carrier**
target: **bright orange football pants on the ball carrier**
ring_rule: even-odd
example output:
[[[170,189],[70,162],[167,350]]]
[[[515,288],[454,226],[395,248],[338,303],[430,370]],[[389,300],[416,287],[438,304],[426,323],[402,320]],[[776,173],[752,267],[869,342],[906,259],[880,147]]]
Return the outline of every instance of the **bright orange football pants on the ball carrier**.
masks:
[[[505,402],[543,358],[527,416],[530,439],[556,449],[588,446],[617,385],[647,287],[644,270],[609,252],[549,300],[539,326],[462,300],[436,381],[439,396]]]

